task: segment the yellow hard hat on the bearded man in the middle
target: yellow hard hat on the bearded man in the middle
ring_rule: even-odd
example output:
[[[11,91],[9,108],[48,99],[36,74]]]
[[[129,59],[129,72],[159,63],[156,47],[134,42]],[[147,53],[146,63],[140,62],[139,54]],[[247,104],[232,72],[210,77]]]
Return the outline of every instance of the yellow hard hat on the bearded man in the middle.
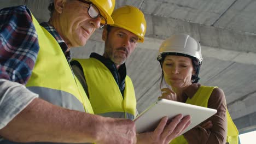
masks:
[[[138,36],[138,42],[144,41],[147,23],[141,10],[131,5],[125,5],[115,9],[111,15],[114,27],[124,28]]]

